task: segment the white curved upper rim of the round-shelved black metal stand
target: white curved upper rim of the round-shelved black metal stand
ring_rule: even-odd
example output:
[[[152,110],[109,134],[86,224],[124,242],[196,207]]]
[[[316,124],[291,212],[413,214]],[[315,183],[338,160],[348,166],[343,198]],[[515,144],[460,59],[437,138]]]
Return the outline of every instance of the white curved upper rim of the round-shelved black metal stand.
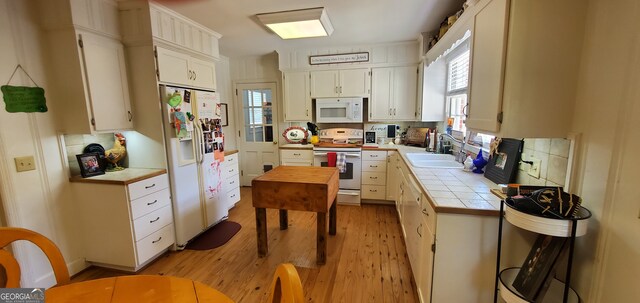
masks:
[[[505,203],[504,200],[502,203]],[[507,206],[504,208],[505,219],[517,227],[554,237],[571,237],[571,224],[573,224],[574,219],[552,219],[529,215],[511,207],[507,203],[505,205]],[[591,212],[584,207],[580,207],[575,219],[578,224],[576,237],[587,233],[586,219],[590,217]]]

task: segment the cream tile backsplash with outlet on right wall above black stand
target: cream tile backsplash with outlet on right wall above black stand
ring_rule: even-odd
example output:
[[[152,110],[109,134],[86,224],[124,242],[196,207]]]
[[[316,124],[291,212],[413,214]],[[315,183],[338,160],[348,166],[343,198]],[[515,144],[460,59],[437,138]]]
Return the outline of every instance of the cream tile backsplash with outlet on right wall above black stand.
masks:
[[[522,163],[518,169],[516,182],[541,186],[565,186],[571,140],[562,138],[524,139],[522,160],[540,160],[540,177],[529,175],[530,164]]]

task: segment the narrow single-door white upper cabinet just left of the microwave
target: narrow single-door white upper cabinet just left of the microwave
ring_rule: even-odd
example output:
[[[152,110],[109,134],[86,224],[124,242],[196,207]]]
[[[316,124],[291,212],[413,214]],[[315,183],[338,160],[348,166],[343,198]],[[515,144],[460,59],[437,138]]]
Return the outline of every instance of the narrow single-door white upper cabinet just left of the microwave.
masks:
[[[282,83],[284,88],[284,120],[311,121],[309,72],[285,72],[282,74]]]

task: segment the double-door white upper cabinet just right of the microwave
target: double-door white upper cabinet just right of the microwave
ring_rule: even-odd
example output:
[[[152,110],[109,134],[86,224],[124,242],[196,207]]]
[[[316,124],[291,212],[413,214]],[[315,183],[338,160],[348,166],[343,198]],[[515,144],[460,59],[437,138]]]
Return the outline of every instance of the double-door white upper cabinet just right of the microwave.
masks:
[[[372,68],[369,121],[416,120],[417,84],[415,65]]]

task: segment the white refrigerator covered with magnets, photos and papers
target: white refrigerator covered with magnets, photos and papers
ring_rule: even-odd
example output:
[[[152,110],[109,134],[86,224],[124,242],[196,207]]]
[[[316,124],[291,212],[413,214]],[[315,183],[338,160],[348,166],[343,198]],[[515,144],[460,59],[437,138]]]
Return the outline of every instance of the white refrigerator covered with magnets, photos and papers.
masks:
[[[224,136],[215,92],[160,86],[176,244],[224,220]]]

